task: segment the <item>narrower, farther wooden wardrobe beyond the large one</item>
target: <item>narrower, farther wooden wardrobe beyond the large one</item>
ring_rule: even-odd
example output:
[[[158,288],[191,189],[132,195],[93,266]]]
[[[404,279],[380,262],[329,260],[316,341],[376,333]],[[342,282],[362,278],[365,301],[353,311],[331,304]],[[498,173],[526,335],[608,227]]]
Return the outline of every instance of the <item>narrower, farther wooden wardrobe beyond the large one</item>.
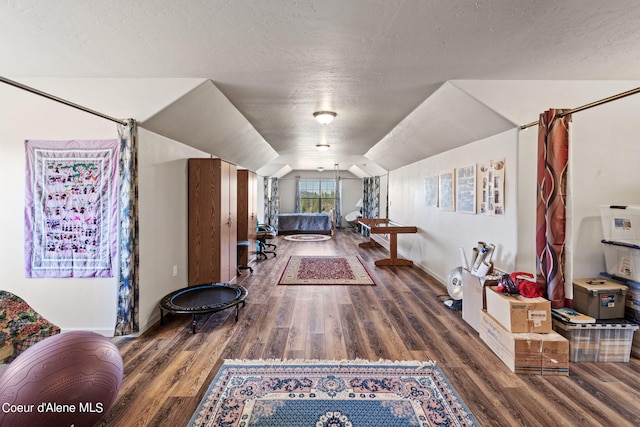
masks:
[[[238,248],[238,265],[248,266],[256,259],[258,219],[258,177],[250,170],[238,170],[238,241],[249,246]]]

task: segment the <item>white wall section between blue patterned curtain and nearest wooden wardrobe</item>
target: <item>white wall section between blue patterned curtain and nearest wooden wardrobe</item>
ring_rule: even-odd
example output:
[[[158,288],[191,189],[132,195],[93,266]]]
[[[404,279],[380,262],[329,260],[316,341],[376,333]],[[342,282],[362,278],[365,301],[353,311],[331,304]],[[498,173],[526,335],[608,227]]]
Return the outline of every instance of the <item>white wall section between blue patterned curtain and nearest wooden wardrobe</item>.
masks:
[[[141,331],[160,319],[158,303],[163,296],[187,286],[190,157],[210,156],[145,129],[139,130]]]

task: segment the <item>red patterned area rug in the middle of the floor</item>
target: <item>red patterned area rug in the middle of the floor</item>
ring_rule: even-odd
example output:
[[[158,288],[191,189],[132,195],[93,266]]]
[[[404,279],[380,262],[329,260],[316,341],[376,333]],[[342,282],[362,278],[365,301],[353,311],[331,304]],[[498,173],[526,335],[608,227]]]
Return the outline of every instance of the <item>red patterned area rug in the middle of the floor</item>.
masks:
[[[375,285],[357,256],[291,256],[279,285]]]

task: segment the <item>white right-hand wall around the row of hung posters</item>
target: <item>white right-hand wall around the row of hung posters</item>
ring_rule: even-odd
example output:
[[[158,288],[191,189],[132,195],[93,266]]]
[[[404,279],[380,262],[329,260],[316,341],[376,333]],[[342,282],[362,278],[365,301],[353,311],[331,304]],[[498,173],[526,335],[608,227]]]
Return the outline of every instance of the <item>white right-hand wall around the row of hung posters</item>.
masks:
[[[425,178],[455,168],[505,159],[505,215],[485,216],[427,207]],[[517,252],[517,132],[508,131],[429,159],[389,175],[389,217],[415,225],[417,234],[398,237],[398,252],[445,283],[449,272],[461,265],[459,248],[470,257],[478,241],[496,245],[496,267],[512,271]]]

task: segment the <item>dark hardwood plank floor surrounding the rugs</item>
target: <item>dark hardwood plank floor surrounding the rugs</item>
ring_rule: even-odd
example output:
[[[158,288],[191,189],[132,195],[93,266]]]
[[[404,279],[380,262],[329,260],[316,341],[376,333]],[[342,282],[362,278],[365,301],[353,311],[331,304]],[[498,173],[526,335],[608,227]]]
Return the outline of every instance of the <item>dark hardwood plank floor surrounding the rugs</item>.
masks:
[[[98,425],[184,426],[224,359],[434,360],[482,426],[639,426],[640,360],[571,363],[568,377],[511,373],[442,304],[446,289],[417,267],[375,267],[384,249],[340,230],[324,242],[278,237],[278,255],[238,283],[227,310],[169,316],[138,338],[114,338],[125,361],[117,401]],[[289,255],[359,255],[377,286],[278,286]],[[358,426],[366,427],[366,426]]]

